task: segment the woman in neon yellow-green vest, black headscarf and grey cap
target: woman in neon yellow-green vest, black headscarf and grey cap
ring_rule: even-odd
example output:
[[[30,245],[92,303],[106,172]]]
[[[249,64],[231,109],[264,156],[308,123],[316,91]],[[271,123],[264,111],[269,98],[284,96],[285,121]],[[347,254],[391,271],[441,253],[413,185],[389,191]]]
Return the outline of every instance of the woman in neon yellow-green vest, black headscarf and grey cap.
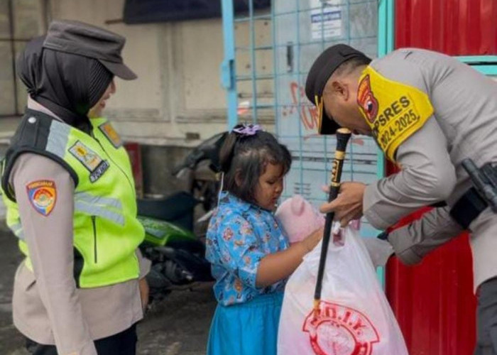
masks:
[[[99,113],[124,65],[124,38],[54,21],[18,61],[28,108],[1,179],[7,223],[26,256],[13,321],[32,354],[135,354],[146,261],[133,175],[119,136]],[[141,286],[142,287],[141,287]],[[146,298],[146,297],[143,297]]]

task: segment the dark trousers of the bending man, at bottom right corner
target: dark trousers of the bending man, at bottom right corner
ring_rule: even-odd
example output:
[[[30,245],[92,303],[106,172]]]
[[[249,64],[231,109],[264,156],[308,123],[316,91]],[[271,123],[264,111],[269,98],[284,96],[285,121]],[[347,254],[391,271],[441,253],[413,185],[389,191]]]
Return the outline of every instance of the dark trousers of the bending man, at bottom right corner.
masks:
[[[482,283],[477,297],[474,355],[497,355],[497,278]]]

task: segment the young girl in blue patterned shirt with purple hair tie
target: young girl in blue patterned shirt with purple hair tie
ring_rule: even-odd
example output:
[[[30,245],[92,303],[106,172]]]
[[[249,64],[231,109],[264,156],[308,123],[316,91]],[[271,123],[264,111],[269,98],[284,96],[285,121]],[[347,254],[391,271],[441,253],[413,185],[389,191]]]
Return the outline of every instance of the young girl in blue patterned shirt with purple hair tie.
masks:
[[[217,280],[208,355],[274,355],[285,280],[322,237],[288,245],[273,210],[291,155],[260,126],[236,126],[220,154],[224,190],[207,231]]]

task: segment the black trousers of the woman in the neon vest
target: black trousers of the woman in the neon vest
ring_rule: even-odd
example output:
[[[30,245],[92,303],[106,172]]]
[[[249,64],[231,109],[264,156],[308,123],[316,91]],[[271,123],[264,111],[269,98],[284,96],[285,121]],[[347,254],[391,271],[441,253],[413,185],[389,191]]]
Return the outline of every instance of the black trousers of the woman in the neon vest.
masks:
[[[99,355],[136,355],[136,324],[124,332],[95,340]],[[58,355],[53,345],[43,345],[26,339],[26,349],[32,355]]]

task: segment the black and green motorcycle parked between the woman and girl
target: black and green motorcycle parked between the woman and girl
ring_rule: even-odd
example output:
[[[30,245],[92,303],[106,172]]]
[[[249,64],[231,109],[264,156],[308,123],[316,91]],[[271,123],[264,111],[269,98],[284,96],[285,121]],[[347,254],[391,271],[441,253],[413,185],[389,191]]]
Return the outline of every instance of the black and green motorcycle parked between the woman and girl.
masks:
[[[140,249],[152,261],[146,277],[152,302],[172,290],[212,280],[203,237],[194,230],[216,207],[219,151],[226,135],[219,133],[202,142],[173,170],[175,178],[184,182],[183,191],[161,199],[137,200],[138,219],[146,231]],[[195,221],[198,205],[207,213]]]

